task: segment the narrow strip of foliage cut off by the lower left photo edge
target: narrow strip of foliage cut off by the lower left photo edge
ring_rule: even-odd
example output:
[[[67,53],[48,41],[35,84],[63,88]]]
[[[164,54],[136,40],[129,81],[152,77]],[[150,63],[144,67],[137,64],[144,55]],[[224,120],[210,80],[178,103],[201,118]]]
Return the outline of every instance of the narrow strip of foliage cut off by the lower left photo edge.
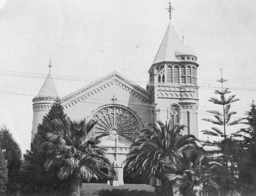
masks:
[[[6,192],[6,184],[8,182],[8,169],[2,149],[0,148],[0,195]]]

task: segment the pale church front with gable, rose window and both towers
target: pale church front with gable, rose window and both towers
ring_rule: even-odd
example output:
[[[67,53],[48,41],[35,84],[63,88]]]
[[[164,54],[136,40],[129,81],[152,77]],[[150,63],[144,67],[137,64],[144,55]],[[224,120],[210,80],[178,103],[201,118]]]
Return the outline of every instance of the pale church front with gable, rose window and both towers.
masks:
[[[123,184],[123,161],[140,129],[147,122],[169,121],[185,125],[183,134],[198,137],[197,56],[183,45],[172,23],[168,24],[156,58],[149,66],[146,89],[112,72],[61,98],[65,113],[72,120],[85,117],[97,120],[92,135],[108,132],[101,145],[118,171],[113,185]],[[32,140],[37,125],[58,97],[49,72],[33,99]]]

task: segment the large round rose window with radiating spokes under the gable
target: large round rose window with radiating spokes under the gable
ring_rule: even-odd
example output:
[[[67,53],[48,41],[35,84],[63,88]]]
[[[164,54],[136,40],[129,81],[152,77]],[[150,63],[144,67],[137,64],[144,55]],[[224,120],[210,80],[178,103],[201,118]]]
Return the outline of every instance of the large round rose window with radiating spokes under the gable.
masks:
[[[93,119],[98,121],[93,129],[96,136],[108,132],[110,139],[120,135],[132,142],[138,137],[139,121],[127,109],[119,106],[105,107],[97,111]]]

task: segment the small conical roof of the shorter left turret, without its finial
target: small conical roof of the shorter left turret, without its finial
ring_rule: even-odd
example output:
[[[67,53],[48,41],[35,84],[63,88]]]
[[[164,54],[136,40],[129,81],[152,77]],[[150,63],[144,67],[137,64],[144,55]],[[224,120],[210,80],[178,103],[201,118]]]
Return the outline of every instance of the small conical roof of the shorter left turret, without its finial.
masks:
[[[56,87],[53,83],[50,70],[49,70],[49,74],[47,75],[44,84],[41,87],[41,90],[37,94],[37,97],[52,97],[52,98],[58,97],[58,93],[57,93]]]

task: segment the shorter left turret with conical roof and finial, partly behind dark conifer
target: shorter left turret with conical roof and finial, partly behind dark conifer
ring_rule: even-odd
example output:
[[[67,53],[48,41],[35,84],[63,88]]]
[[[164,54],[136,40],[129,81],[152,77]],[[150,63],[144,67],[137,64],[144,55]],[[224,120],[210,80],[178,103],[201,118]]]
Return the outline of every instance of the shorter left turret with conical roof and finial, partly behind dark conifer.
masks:
[[[39,93],[33,99],[33,125],[31,142],[37,132],[37,126],[42,122],[42,118],[49,112],[54,101],[58,97],[56,87],[53,83],[51,76],[51,60],[49,63],[49,73],[46,77],[44,84],[42,85]]]

